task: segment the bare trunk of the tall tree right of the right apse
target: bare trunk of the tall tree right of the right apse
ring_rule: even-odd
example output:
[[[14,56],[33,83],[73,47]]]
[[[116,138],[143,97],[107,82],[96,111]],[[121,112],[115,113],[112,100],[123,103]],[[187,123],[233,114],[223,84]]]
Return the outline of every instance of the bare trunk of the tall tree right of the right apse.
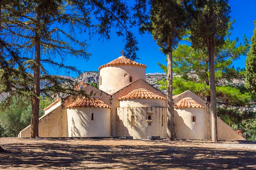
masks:
[[[212,142],[218,142],[217,134],[217,105],[216,105],[216,85],[214,74],[214,39],[211,36],[208,46],[209,72],[210,72],[210,90],[211,90],[211,118],[212,118]]]

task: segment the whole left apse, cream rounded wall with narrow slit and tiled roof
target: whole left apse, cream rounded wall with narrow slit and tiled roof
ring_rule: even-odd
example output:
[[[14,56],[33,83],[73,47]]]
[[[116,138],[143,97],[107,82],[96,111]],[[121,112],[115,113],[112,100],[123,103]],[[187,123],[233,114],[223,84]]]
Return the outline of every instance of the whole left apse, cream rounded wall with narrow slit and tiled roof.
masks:
[[[109,137],[110,109],[97,98],[82,98],[67,106],[69,137]]]

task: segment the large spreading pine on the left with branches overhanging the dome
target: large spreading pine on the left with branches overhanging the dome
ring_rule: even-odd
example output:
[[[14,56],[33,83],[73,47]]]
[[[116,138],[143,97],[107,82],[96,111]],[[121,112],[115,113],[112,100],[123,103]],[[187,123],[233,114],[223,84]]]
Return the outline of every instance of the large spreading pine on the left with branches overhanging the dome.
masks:
[[[79,71],[66,66],[66,57],[88,59],[88,44],[76,39],[77,33],[88,32],[89,38],[99,34],[110,39],[110,30],[116,28],[124,36],[127,57],[136,58],[137,41],[128,25],[132,21],[130,9],[121,0],[11,0],[1,12],[1,67],[0,93],[7,93],[6,103],[13,95],[31,98],[31,137],[38,136],[39,95],[56,93],[75,94],[74,82],[52,76],[45,68],[51,65],[66,73]],[[134,8],[133,10],[137,10]],[[95,19],[92,19],[95,18]],[[96,20],[96,21],[95,21]],[[94,24],[92,24],[94,22]],[[96,23],[95,23],[96,22]],[[60,61],[60,62],[58,62]],[[40,89],[40,80],[46,82]]]

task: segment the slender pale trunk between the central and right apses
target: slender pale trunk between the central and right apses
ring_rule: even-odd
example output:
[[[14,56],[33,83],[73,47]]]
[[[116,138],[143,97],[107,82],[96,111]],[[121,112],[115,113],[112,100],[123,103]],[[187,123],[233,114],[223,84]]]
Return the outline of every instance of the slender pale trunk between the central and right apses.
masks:
[[[168,52],[167,74],[167,139],[173,140],[173,102],[172,102],[172,48]]]

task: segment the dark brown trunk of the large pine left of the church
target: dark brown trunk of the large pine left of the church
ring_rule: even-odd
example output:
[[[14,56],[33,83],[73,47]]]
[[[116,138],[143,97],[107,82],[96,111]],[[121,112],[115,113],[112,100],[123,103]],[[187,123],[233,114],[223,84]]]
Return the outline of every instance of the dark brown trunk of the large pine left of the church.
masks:
[[[31,127],[30,137],[35,138],[38,136],[38,124],[39,124],[39,96],[40,96],[40,33],[35,34],[35,63],[33,66],[33,93],[31,104],[32,104],[32,115],[31,115]]]

